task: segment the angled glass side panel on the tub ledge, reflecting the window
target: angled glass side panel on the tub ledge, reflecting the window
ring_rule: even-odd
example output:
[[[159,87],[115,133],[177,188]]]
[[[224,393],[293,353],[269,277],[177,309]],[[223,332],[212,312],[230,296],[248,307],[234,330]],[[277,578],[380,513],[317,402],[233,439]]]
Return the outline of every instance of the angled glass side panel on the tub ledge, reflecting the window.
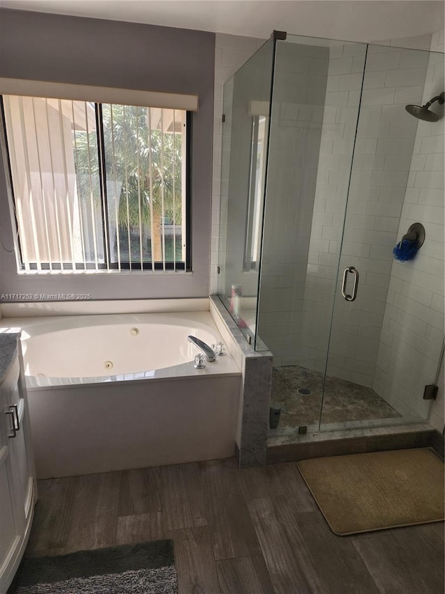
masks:
[[[224,85],[218,295],[245,338],[256,338],[274,41]]]

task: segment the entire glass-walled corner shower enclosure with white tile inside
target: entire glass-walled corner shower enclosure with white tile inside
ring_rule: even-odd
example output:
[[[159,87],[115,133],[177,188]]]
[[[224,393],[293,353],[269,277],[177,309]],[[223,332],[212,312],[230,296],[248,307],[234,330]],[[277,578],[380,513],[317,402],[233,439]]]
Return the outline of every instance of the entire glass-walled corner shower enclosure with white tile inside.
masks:
[[[218,295],[273,354],[270,435],[428,420],[443,91],[444,54],[280,32],[225,84]]]

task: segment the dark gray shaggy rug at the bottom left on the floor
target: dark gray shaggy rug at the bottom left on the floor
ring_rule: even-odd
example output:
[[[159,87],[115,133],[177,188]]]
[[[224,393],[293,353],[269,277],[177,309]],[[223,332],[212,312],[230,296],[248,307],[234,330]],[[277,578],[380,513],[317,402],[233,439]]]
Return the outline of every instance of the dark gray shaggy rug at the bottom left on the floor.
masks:
[[[172,540],[24,558],[14,594],[176,594]]]

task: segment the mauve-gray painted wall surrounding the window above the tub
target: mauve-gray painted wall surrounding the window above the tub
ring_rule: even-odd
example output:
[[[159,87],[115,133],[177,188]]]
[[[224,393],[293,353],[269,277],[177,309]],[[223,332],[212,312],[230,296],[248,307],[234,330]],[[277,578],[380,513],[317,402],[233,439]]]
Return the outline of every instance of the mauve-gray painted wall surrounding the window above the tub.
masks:
[[[1,292],[89,292],[92,299],[207,297],[215,36],[204,31],[0,9],[0,77],[189,93],[193,114],[193,274],[24,276],[8,224],[0,227]],[[0,221],[9,221],[0,164]]]

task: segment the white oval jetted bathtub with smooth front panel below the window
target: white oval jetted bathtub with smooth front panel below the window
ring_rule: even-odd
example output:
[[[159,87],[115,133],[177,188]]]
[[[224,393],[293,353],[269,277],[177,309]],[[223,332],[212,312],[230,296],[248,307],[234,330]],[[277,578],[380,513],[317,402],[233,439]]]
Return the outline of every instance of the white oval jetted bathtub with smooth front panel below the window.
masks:
[[[209,311],[3,318],[21,331],[38,478],[234,455],[241,370],[193,367]]]

